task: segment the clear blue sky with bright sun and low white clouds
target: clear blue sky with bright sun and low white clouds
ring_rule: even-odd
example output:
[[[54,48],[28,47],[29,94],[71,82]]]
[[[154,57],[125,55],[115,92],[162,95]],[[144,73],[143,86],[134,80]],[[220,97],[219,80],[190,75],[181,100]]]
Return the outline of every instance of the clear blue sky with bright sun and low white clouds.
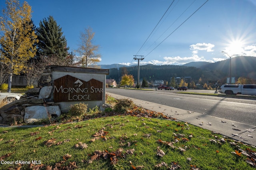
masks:
[[[90,26],[93,43],[100,45],[99,64],[136,64],[134,55],[144,56],[142,64],[158,65],[216,62],[228,55],[256,57],[255,0],[26,1],[36,26],[53,16],[70,51],[77,49],[80,33]],[[4,2],[0,0],[1,8]]]

